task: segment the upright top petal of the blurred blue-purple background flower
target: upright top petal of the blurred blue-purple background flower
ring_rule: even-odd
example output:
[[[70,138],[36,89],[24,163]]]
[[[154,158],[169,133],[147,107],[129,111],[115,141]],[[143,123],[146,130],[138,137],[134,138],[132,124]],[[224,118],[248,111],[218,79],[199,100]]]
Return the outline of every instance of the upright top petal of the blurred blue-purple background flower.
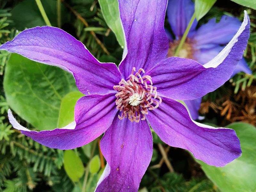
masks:
[[[188,23],[195,12],[195,4],[191,0],[169,0],[167,6],[168,21],[176,38],[182,37]],[[190,31],[196,28],[196,20],[193,22]]]

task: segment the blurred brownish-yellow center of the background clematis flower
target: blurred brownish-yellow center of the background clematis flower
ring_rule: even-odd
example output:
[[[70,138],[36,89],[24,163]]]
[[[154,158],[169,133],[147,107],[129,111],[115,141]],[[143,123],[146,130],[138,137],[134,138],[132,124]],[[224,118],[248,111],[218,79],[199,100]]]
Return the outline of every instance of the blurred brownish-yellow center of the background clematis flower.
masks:
[[[169,43],[169,49],[167,53],[167,57],[172,57],[180,44],[180,40],[175,40]],[[195,48],[193,47],[193,42],[189,38],[186,39],[180,52],[178,53],[178,57],[187,58],[187,59],[194,59],[194,53],[196,52]]]

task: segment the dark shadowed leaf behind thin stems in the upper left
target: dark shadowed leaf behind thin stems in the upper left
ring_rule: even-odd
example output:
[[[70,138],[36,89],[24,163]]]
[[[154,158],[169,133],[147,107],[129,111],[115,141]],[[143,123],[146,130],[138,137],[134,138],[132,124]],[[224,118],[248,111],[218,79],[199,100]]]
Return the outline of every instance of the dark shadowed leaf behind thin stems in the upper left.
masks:
[[[56,0],[43,0],[41,2],[52,26],[57,26]],[[20,31],[23,31],[25,28],[46,25],[35,0],[21,1],[19,4],[13,7],[11,13],[12,16],[10,19],[13,20],[14,27]],[[68,12],[66,11],[65,6],[61,5],[62,23],[67,20],[67,15]]]

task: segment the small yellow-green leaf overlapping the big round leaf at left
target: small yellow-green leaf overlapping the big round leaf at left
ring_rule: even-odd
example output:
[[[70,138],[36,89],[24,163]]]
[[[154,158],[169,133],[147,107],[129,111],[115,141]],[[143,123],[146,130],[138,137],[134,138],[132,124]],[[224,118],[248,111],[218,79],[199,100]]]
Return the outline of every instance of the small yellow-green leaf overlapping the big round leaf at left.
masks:
[[[66,125],[75,120],[74,109],[76,101],[83,96],[84,94],[82,94],[81,92],[73,91],[62,98],[60,104],[58,127],[65,127]]]

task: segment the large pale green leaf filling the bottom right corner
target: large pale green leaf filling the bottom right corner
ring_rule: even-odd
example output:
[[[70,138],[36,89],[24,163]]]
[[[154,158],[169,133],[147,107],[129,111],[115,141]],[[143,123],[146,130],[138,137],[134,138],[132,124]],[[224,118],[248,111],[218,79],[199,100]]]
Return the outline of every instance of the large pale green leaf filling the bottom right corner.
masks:
[[[242,156],[225,167],[214,167],[197,160],[205,174],[223,192],[256,191],[256,127],[246,123],[227,126],[241,142]]]

